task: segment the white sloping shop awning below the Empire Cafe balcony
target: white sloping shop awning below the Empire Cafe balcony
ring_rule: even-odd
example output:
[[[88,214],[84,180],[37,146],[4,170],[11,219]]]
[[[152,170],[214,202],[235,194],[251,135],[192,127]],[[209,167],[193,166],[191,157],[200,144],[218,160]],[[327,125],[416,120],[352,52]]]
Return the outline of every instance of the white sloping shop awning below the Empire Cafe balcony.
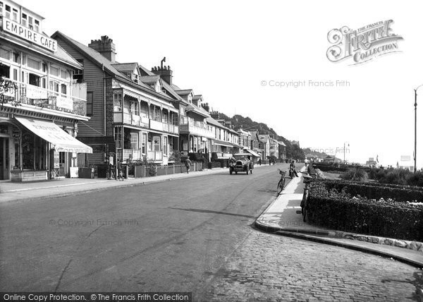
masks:
[[[29,131],[54,145],[54,150],[57,152],[92,153],[92,147],[81,143],[52,121],[17,116],[15,118]]]

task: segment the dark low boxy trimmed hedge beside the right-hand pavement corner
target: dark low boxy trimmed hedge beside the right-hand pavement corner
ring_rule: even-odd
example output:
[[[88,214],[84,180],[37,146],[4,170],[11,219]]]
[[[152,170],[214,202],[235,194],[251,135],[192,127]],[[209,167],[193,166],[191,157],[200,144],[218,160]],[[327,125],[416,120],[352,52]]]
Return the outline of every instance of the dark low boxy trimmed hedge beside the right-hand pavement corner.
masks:
[[[423,205],[406,203],[404,198],[389,199],[389,195],[397,196],[400,188],[366,184],[313,181],[307,200],[309,222],[339,231],[423,241]],[[405,187],[403,193],[422,196],[421,190],[413,188]],[[374,195],[384,196],[374,199]]]

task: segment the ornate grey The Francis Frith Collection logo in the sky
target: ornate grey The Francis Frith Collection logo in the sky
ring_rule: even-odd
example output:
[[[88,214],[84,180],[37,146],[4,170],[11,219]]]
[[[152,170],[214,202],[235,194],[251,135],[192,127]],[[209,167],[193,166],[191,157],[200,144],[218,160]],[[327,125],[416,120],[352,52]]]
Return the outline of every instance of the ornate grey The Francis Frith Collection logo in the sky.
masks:
[[[328,32],[328,41],[332,45],[328,48],[326,56],[332,62],[351,59],[351,65],[355,65],[377,56],[399,52],[398,41],[403,40],[403,37],[393,33],[392,23],[393,20],[385,20],[357,30],[347,26],[333,29]]]

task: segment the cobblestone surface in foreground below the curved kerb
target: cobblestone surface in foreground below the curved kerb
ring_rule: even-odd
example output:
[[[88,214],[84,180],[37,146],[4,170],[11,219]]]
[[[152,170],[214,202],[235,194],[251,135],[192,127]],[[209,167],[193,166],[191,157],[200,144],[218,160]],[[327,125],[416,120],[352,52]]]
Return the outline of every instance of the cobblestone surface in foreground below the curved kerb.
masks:
[[[252,231],[201,301],[419,301],[423,271],[401,262]]]

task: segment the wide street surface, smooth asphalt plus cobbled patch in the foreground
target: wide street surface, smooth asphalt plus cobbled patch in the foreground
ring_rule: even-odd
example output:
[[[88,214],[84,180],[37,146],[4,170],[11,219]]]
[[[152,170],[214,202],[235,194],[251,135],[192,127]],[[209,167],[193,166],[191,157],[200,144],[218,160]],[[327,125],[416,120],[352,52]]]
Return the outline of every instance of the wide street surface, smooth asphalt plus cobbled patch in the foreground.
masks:
[[[417,298],[421,274],[413,267],[252,229],[276,197],[276,168],[287,166],[1,204],[0,291],[192,291],[195,301],[284,301],[305,298],[299,289],[307,282],[314,298],[342,297],[343,287],[364,301]],[[297,279],[281,279],[285,273]],[[359,281],[364,275],[371,282]],[[326,283],[314,287],[322,276]],[[377,295],[366,296],[367,288]]]

